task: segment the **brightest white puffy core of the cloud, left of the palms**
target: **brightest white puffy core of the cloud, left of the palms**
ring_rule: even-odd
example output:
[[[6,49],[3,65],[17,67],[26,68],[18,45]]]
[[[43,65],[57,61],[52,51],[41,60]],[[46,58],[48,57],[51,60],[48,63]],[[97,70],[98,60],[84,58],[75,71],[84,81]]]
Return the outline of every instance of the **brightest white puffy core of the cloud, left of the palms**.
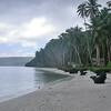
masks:
[[[21,36],[23,38],[41,38],[49,32],[52,32],[54,27],[47,23],[46,18],[34,18],[29,23],[23,23]]]

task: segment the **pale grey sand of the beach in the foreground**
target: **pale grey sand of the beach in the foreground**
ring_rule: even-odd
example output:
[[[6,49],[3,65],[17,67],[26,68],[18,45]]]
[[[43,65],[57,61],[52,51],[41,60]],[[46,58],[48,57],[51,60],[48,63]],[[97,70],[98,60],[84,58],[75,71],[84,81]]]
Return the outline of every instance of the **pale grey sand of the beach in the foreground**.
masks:
[[[0,111],[111,111],[111,74],[104,84],[94,84],[89,78],[92,74],[74,74],[70,80],[1,102]]]

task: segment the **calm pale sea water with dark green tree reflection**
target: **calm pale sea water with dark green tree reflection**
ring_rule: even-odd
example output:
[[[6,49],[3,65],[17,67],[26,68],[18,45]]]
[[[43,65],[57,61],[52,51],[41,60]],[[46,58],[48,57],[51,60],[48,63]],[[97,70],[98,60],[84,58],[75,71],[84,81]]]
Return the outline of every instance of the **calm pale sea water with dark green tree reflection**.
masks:
[[[0,67],[0,102],[36,90],[67,75],[26,67]]]

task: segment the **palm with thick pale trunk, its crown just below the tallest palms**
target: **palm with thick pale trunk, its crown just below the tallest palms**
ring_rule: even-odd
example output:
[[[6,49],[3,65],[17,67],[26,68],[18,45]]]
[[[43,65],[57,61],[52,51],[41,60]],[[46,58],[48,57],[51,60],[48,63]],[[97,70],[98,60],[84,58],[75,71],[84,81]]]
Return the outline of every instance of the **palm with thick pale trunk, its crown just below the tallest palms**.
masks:
[[[91,24],[88,24],[89,29],[91,29],[92,31],[92,40],[95,47],[95,51],[97,51],[97,63],[98,65],[101,65],[100,63],[100,46],[103,42],[103,32],[102,32],[102,26],[101,26],[101,18],[97,17],[97,18],[91,18]]]

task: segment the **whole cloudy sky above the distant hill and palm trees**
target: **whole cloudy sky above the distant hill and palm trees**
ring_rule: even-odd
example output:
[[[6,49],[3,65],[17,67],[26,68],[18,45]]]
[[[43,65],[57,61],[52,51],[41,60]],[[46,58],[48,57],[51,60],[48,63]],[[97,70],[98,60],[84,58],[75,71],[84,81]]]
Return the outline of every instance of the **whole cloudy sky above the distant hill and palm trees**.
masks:
[[[85,0],[0,0],[0,57],[34,57],[51,39],[83,27],[77,8]],[[98,0],[102,6],[109,0]]]

